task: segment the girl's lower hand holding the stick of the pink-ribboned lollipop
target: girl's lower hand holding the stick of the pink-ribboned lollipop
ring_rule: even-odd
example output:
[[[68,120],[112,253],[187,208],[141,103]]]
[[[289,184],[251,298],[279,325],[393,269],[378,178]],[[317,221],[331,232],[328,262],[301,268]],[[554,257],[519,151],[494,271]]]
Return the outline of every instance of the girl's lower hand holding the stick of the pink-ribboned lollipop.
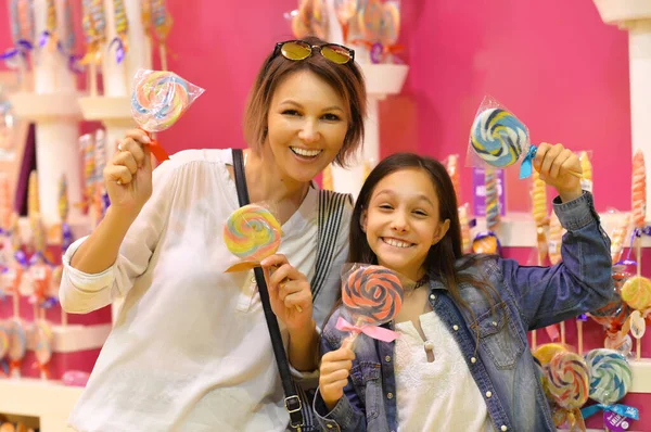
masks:
[[[345,339],[341,348],[331,351],[321,358],[319,392],[330,410],[334,409],[339,399],[344,397],[344,387],[348,383],[348,376],[355,359],[352,347],[353,341]]]

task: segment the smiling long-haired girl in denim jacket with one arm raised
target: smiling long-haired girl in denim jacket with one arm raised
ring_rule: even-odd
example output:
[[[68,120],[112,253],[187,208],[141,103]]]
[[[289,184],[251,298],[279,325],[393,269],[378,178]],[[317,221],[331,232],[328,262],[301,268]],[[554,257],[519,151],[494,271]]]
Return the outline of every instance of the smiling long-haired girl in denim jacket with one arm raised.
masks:
[[[557,189],[554,211],[567,229],[563,262],[548,268],[462,256],[452,182],[438,162],[395,154],[370,174],[349,261],[385,266],[418,288],[388,325],[396,342],[362,334],[354,353],[335,329],[345,310],[330,317],[315,398],[324,430],[556,431],[526,331],[601,307],[613,282],[592,195],[569,174],[580,171],[578,158],[541,144],[535,167]]]

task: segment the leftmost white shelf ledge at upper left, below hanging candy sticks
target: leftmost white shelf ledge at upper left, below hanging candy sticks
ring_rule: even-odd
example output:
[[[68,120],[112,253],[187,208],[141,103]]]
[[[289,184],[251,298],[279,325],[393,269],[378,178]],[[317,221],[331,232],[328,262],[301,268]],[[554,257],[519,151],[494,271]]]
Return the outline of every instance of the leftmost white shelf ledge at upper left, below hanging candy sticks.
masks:
[[[14,113],[35,122],[62,120],[81,117],[77,93],[25,93],[12,94],[10,102]]]

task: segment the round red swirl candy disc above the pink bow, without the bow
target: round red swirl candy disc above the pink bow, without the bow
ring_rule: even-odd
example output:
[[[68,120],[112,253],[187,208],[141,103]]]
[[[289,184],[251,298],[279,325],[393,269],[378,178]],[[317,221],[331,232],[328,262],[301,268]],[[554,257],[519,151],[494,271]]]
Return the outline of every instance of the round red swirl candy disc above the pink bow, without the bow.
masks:
[[[403,294],[398,275],[382,266],[368,266],[348,275],[342,301],[358,322],[381,325],[400,312]]]

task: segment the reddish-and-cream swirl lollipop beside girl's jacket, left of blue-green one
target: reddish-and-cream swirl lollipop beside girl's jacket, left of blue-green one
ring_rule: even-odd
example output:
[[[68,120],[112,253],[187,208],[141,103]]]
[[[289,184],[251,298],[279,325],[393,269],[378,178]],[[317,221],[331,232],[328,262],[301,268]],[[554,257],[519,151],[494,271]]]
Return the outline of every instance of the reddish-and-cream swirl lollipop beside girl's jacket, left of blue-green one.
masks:
[[[545,370],[548,394],[564,410],[572,429],[578,425],[585,431],[579,408],[588,401],[589,372],[585,359],[578,354],[560,352],[553,356]]]

